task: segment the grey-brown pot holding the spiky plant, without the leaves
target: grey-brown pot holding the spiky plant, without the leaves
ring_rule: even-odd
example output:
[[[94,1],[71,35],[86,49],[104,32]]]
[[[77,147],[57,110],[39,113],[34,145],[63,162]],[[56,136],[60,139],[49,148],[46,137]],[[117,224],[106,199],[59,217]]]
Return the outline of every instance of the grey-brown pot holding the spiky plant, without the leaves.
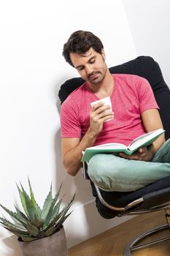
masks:
[[[23,256],[67,256],[66,234],[62,227],[51,236],[31,242],[19,241]]]

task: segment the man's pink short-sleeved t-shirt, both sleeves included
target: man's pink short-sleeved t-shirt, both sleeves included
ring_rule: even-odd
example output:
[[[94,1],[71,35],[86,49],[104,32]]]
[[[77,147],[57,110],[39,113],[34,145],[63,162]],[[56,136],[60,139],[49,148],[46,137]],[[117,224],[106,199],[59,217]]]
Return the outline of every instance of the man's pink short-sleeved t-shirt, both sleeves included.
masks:
[[[114,119],[104,123],[94,145],[123,143],[145,133],[141,113],[158,108],[150,83],[137,75],[114,74],[111,95]],[[90,125],[90,102],[98,100],[84,83],[61,105],[61,137],[82,138]]]

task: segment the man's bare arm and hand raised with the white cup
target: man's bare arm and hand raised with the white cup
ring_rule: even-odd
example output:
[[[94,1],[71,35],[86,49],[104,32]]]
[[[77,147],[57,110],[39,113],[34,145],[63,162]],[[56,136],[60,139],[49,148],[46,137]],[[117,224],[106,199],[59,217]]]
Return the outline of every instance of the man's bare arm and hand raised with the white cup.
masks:
[[[90,111],[90,127],[82,140],[80,138],[62,138],[62,159],[67,173],[72,176],[77,174],[81,167],[82,151],[93,146],[98,134],[103,129],[104,121],[109,118],[113,118],[110,107],[99,102]]]

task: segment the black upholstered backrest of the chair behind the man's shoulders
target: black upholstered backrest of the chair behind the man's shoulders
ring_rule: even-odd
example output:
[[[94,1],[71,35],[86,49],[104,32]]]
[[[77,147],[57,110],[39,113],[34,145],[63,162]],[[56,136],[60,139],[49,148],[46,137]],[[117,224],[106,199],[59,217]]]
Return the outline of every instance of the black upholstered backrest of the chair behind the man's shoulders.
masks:
[[[139,56],[138,58],[125,62],[115,67],[110,67],[112,74],[131,74],[139,75],[146,78],[150,82],[155,99],[160,108],[160,115],[163,127],[166,130],[166,140],[170,138],[170,91],[166,85],[161,69],[158,63],[150,56]],[[58,92],[61,104],[75,89],[82,85],[85,81],[82,78],[72,78],[66,80]]]

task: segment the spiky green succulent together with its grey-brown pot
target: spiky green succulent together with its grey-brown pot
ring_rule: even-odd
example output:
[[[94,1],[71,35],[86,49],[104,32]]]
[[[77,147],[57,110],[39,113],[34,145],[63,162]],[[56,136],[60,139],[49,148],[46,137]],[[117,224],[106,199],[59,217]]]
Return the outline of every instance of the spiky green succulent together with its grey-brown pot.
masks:
[[[9,211],[0,204],[1,208],[12,218],[9,221],[0,217],[0,224],[18,236],[23,256],[66,256],[67,246],[63,222],[72,213],[68,213],[68,211],[72,206],[75,194],[72,200],[61,209],[63,200],[63,197],[59,198],[61,187],[53,197],[51,185],[45,203],[40,208],[34,198],[29,178],[28,185],[30,195],[27,194],[22,184],[20,187],[17,185],[23,211],[20,211],[17,206],[15,206],[15,211]]]

